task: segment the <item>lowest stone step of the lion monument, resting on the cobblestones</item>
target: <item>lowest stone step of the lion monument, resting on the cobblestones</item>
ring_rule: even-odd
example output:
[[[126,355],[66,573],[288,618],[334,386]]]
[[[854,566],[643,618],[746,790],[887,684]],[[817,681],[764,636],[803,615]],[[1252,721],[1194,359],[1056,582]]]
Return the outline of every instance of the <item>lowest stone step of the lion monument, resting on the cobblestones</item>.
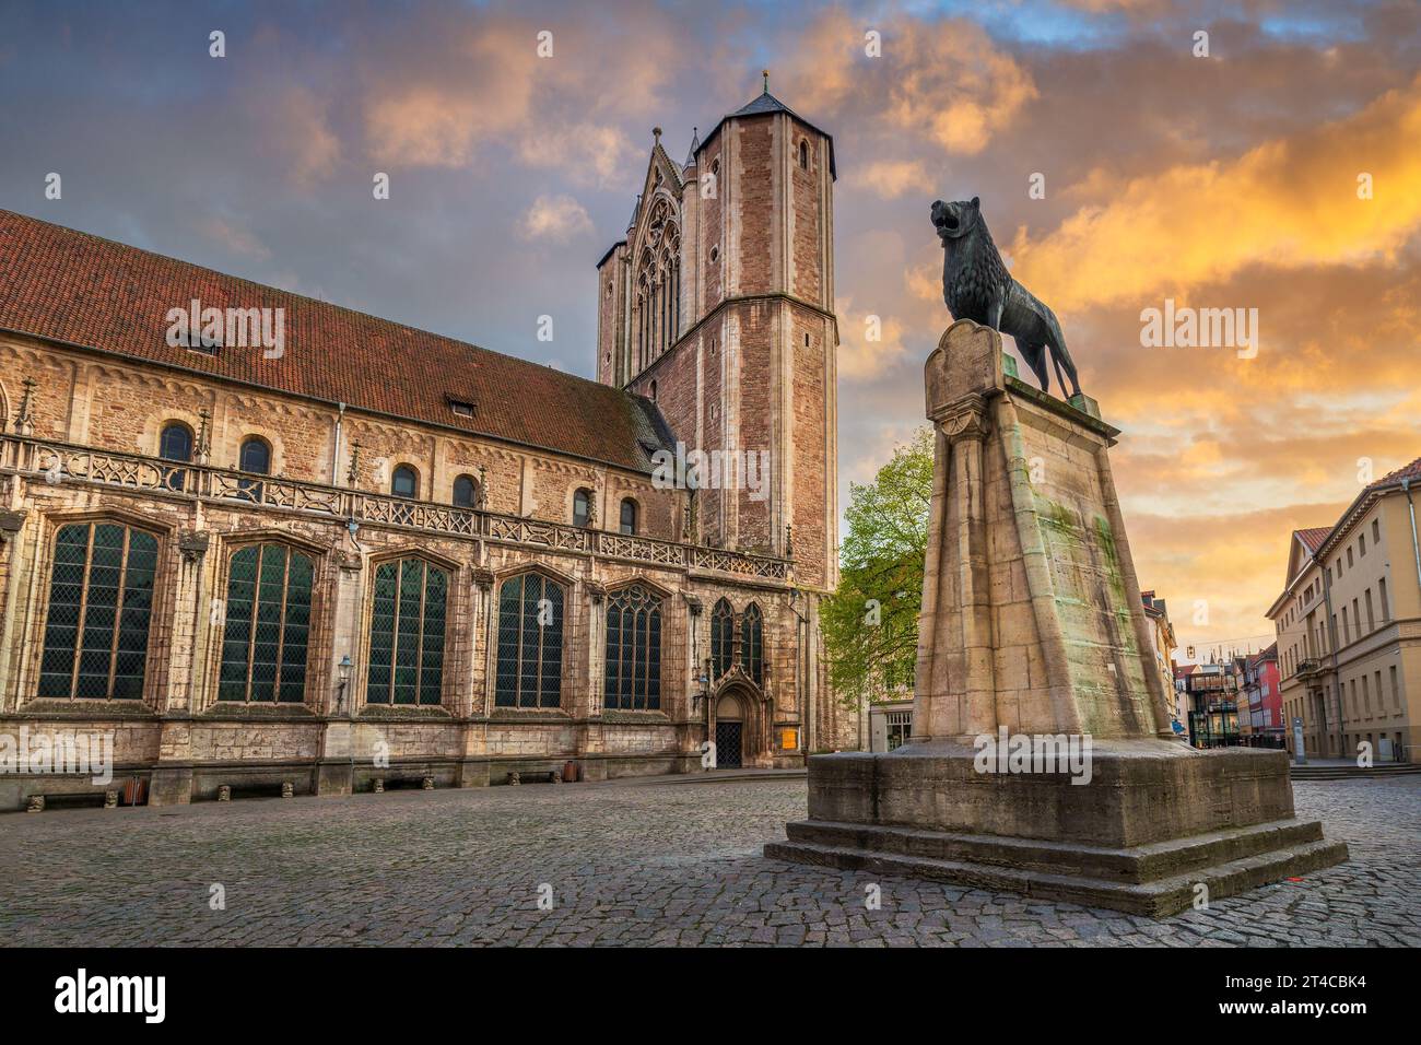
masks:
[[[1304,842],[1283,849],[1228,860],[1150,883],[1111,881],[1076,874],[1052,874],[962,860],[934,860],[922,856],[868,852],[807,842],[772,842],[764,846],[772,860],[807,863],[872,874],[902,874],[935,881],[1019,893],[1030,899],[1079,903],[1148,917],[1168,917],[1195,903],[1199,883],[1209,901],[1225,896],[1331,867],[1347,859],[1341,842]]]

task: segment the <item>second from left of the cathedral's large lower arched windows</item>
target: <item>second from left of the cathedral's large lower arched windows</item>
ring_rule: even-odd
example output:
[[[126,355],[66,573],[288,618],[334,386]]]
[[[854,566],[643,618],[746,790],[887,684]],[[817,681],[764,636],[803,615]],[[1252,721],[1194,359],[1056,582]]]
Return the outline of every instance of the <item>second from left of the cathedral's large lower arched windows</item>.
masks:
[[[311,634],[311,559],[284,545],[233,553],[217,700],[300,704]]]

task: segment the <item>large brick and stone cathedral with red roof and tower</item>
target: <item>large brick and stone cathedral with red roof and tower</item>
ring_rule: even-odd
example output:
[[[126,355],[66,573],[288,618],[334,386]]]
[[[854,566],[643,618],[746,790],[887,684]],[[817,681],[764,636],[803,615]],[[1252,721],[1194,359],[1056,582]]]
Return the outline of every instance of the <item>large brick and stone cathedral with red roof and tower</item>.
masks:
[[[654,136],[597,381],[0,210],[0,809],[863,746],[833,139]]]

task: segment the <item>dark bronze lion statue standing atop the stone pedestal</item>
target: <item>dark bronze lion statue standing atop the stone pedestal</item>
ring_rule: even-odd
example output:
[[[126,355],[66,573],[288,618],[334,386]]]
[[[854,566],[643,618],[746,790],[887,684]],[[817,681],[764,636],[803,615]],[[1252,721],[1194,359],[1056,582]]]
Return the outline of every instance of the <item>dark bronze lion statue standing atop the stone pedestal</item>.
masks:
[[[939,199],[932,205],[932,225],[942,240],[942,300],[952,310],[952,318],[972,320],[1010,334],[1044,392],[1050,391],[1050,374],[1046,370],[1049,348],[1061,392],[1066,391],[1069,377],[1070,394],[1080,395],[1076,364],[1066,351],[1066,338],[1056,313],[1012,279],[986,222],[982,220],[980,200],[976,196],[971,203],[944,203]]]

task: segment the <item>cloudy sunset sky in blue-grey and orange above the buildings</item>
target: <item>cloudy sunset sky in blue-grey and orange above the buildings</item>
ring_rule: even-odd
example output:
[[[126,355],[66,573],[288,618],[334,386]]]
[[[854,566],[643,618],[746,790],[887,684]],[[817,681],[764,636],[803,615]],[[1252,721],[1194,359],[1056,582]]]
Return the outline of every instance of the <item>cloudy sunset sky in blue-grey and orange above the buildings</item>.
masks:
[[[922,424],[928,205],[979,196],[1123,431],[1140,583],[1265,645],[1290,532],[1421,456],[1414,0],[7,0],[0,206],[591,377],[651,128],[684,158],[762,68],[836,142],[841,502]],[[1256,351],[1147,345],[1167,300]]]

